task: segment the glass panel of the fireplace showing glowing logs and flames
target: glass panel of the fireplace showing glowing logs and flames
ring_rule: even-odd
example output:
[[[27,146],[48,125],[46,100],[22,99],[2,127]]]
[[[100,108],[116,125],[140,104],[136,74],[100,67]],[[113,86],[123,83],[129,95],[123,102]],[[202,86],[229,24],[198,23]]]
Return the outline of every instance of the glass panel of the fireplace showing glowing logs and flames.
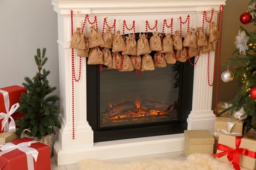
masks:
[[[179,119],[180,63],[144,71],[100,73],[100,128]]]

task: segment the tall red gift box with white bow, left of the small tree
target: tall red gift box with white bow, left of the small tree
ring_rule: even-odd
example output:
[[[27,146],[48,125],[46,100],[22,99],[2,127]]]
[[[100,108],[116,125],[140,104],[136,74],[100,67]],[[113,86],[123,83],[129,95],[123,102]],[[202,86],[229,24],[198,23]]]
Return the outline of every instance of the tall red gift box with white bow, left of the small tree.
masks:
[[[15,132],[15,120],[23,116],[21,113],[16,113],[22,93],[27,93],[26,88],[22,86],[0,88],[0,132]],[[6,116],[7,114],[11,117]],[[5,124],[4,129],[2,124]]]

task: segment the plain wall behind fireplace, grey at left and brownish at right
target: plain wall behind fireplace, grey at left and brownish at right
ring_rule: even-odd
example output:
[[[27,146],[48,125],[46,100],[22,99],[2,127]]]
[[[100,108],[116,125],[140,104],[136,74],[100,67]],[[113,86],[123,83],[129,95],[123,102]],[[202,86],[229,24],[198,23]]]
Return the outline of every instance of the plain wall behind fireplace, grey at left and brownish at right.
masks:
[[[224,7],[223,46],[221,63],[228,62],[235,50],[234,38],[240,29],[240,15],[247,10],[248,1],[227,0]],[[47,48],[51,70],[49,81],[59,86],[57,16],[51,0],[0,0],[0,87],[21,85],[24,76],[32,77],[37,68],[33,56],[36,48]],[[245,25],[243,25],[245,26]],[[245,26],[253,30],[253,24]],[[226,69],[221,66],[221,73]],[[236,95],[236,82],[220,80],[219,100],[230,101]],[[215,107],[216,87],[213,90]],[[56,94],[58,94],[58,90]]]

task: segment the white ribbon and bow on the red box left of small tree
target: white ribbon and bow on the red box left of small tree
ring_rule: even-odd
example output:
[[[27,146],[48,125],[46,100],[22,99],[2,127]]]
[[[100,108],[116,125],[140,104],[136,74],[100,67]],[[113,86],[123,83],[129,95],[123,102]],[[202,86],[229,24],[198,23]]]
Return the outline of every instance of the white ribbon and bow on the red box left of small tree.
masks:
[[[15,121],[12,118],[12,114],[20,107],[19,103],[15,103],[12,105],[11,109],[9,110],[10,107],[10,100],[9,100],[9,93],[6,92],[5,90],[0,90],[0,93],[3,93],[3,99],[5,101],[5,112],[0,113],[0,119],[3,119],[2,121],[2,131],[8,131],[9,133],[13,133],[16,131],[16,125]],[[9,118],[11,119],[11,122],[9,123]]]

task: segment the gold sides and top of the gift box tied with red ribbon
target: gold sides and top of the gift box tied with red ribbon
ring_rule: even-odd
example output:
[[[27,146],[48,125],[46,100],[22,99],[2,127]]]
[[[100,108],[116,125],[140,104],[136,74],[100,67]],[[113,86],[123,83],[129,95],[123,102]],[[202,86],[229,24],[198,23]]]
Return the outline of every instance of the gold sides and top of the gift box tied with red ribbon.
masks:
[[[219,144],[224,144],[231,148],[236,148],[236,137],[232,135],[221,134],[219,137]],[[240,148],[246,148],[249,151],[256,152],[256,140],[249,138],[242,138]],[[217,154],[223,152],[222,150],[217,150]],[[220,158],[216,158],[217,160],[221,160],[223,162],[230,163],[228,161],[227,155],[221,156]],[[247,169],[256,169],[256,159],[250,158],[249,156],[240,155],[240,167],[244,167]]]

